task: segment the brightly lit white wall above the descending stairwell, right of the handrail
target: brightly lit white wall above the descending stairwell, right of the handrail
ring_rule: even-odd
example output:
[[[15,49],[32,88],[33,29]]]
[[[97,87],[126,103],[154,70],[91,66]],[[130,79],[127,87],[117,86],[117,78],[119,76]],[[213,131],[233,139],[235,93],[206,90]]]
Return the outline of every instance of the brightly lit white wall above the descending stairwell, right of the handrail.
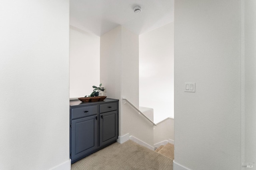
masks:
[[[139,36],[140,106],[154,122],[174,117],[174,23]]]

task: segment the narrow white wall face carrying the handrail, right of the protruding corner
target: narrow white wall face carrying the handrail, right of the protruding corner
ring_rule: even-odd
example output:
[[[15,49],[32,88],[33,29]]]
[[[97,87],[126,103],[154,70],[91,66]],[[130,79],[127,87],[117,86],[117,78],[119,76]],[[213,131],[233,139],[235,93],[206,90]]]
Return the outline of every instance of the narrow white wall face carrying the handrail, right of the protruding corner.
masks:
[[[122,27],[122,92],[121,96],[139,108],[139,36]],[[130,105],[123,104],[121,111],[122,134],[129,133],[153,146],[153,125],[139,115]],[[138,130],[140,129],[140,130]]]

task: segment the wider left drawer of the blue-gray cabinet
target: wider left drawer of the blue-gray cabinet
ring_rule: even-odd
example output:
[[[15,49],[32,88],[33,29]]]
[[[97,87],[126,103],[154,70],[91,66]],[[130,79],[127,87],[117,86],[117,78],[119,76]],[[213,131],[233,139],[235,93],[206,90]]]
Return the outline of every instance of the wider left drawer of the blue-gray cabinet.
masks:
[[[74,108],[74,109],[71,109],[71,112],[72,112],[71,119],[86,117],[86,116],[90,116],[90,115],[96,115],[97,114],[97,106]]]

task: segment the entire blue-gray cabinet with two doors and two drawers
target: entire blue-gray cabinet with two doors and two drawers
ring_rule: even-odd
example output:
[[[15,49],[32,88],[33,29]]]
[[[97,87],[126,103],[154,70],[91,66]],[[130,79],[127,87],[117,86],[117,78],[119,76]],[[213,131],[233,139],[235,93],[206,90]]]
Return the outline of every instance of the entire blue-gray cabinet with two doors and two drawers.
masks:
[[[70,158],[74,163],[118,138],[118,101],[70,101]]]

